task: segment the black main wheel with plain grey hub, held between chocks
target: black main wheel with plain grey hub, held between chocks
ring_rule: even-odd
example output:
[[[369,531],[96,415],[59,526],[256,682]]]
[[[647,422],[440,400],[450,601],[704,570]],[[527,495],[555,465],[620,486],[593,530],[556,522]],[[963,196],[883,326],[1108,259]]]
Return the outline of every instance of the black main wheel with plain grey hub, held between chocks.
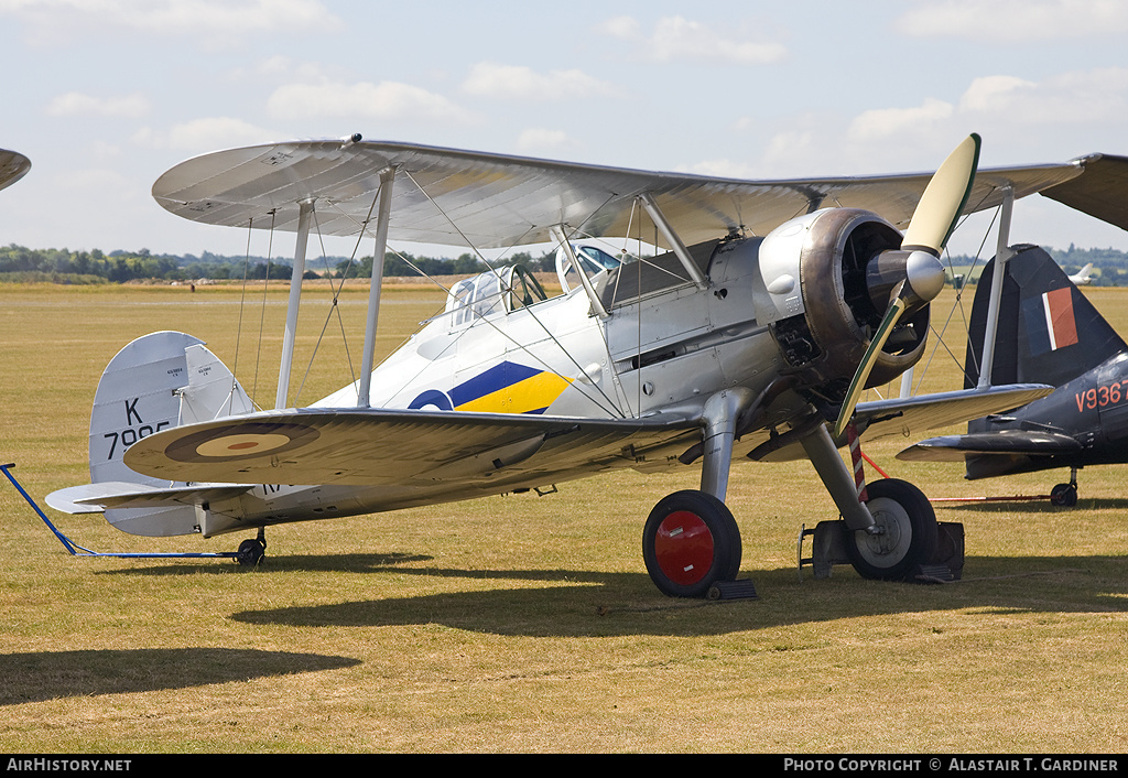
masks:
[[[936,551],[936,512],[924,492],[907,481],[882,479],[866,489],[866,505],[881,533],[847,533],[847,556],[863,578],[904,580]]]

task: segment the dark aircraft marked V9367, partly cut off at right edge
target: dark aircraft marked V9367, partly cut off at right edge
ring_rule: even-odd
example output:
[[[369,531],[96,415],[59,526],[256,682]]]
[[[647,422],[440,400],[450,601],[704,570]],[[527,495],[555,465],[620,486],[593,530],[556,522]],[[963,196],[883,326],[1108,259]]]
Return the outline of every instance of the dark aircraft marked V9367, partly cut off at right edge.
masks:
[[[1015,246],[1005,280],[990,383],[1058,388],[1010,413],[968,422],[967,435],[922,440],[899,460],[967,464],[970,480],[1069,467],[1055,505],[1077,504],[1077,470],[1128,462],[1128,344],[1037,246]],[[979,383],[995,260],[980,277],[968,327],[964,384]]]

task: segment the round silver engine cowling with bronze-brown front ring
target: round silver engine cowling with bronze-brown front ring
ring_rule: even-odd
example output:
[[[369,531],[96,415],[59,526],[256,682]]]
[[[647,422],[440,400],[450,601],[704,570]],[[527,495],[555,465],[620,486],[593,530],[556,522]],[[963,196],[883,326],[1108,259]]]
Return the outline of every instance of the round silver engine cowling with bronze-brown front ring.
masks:
[[[781,225],[759,248],[760,273],[777,317],[773,334],[803,385],[831,401],[857,369],[911,252],[901,233],[871,211],[831,208]],[[866,386],[885,384],[924,356],[924,301],[902,315]]]

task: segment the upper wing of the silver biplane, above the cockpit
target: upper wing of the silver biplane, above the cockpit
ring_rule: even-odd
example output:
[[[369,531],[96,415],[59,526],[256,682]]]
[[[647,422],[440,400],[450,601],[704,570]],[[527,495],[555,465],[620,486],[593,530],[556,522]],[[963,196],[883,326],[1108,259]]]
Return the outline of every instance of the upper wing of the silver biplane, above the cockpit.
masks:
[[[1085,164],[981,169],[963,212],[998,206],[1005,186],[1019,198],[1060,186],[1082,175]],[[321,234],[355,235],[370,218],[380,173],[389,167],[398,171],[391,238],[469,241],[481,247],[547,243],[549,229],[561,224],[593,236],[652,234],[649,219],[635,209],[635,198],[644,192],[686,244],[741,229],[766,235],[831,204],[863,208],[902,225],[932,177],[742,181],[407,143],[300,141],[190,159],[158,178],[152,194],[167,210],[194,221],[291,231],[298,203],[314,199]]]

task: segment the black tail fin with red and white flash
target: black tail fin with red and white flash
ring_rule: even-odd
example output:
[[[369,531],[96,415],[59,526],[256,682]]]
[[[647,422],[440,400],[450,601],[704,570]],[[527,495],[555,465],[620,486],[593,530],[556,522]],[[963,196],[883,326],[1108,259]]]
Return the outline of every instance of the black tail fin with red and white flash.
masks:
[[[1042,248],[1014,246],[1006,263],[990,383],[1060,386],[1128,350],[1128,344]],[[995,262],[976,288],[968,327],[964,387],[979,382]]]

